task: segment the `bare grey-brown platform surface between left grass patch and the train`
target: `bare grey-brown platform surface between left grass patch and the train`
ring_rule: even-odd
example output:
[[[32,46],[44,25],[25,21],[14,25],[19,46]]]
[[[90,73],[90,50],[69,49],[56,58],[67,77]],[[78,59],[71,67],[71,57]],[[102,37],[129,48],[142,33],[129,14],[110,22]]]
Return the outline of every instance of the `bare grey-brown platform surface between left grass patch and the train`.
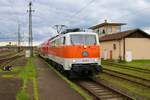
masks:
[[[36,59],[39,100],[84,100],[41,59]]]

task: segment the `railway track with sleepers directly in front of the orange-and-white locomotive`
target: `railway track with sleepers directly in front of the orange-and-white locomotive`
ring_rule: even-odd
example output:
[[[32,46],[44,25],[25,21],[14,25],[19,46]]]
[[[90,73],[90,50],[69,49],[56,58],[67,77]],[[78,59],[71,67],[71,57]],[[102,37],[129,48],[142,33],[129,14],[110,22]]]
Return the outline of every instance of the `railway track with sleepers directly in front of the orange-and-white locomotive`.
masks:
[[[74,82],[88,91],[96,100],[133,100],[128,95],[94,80],[76,80]]]

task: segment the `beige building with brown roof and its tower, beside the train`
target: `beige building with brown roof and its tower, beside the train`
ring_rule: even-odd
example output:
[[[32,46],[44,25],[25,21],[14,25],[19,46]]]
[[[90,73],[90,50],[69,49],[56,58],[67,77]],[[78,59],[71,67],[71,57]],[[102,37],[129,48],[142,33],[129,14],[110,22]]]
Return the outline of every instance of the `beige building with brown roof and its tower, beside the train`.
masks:
[[[121,31],[123,23],[105,23],[90,27],[99,34],[102,58],[125,60],[150,59],[150,35],[141,29]],[[99,31],[98,31],[99,30]]]

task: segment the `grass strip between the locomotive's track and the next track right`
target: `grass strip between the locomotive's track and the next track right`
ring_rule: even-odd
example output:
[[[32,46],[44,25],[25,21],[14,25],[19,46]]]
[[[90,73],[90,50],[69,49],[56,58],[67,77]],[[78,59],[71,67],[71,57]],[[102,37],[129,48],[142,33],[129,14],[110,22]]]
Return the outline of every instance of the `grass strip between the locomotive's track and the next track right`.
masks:
[[[106,74],[100,74],[99,78],[111,83],[112,85],[114,85],[116,87],[125,89],[128,92],[135,93],[138,96],[142,96],[142,97],[147,98],[147,100],[150,100],[150,95],[149,95],[150,89],[147,87],[143,87],[136,83],[132,83],[127,80],[119,79],[119,78],[109,76]]]

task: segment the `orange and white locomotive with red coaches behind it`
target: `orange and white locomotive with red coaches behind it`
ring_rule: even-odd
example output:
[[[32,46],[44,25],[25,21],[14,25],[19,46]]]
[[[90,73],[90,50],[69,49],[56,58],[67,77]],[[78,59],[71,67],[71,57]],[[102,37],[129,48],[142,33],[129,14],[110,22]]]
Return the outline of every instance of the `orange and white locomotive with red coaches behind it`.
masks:
[[[39,46],[40,56],[68,77],[93,76],[102,71],[101,47],[93,32],[57,35]]]

